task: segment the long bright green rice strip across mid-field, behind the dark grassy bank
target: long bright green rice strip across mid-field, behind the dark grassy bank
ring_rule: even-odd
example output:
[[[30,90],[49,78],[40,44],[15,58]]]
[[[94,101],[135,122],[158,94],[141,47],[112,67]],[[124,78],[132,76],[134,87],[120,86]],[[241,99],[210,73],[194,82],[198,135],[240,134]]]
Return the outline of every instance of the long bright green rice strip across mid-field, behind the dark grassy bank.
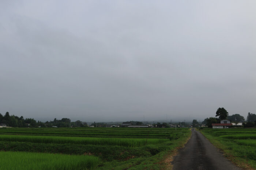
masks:
[[[91,145],[117,145],[139,147],[146,144],[157,144],[168,139],[133,139],[133,138],[85,138],[85,137],[55,137],[55,136],[29,136],[29,135],[0,135],[0,141],[18,141],[33,143],[74,143]]]

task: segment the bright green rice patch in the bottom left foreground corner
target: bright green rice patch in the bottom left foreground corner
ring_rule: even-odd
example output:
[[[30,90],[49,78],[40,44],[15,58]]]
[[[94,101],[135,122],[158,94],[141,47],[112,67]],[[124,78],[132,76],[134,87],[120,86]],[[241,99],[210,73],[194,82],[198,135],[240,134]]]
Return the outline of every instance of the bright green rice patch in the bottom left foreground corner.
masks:
[[[95,169],[100,159],[89,155],[0,152],[0,169],[70,170]]]

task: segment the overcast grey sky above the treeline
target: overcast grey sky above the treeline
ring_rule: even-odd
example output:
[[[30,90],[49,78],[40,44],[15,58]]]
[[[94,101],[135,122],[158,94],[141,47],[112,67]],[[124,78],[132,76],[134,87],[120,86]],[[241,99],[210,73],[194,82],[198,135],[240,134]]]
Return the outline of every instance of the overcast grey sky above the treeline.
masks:
[[[256,1],[0,1],[0,112],[36,120],[256,113]],[[144,116],[144,118],[143,118]]]

